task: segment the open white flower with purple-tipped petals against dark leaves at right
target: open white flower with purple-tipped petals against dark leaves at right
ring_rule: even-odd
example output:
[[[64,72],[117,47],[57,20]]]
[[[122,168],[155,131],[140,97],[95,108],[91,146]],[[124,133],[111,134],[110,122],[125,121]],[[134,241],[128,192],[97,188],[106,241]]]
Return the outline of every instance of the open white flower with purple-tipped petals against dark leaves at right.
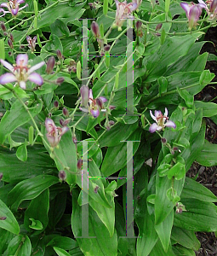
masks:
[[[152,124],[149,127],[149,131],[151,133],[153,133],[155,131],[161,131],[165,127],[173,127],[175,129],[176,125],[174,124],[174,122],[168,120],[168,108],[165,108],[164,115],[159,110],[155,110],[155,115],[153,115],[151,110],[150,110],[150,114],[151,114],[151,118],[156,121],[156,123]]]

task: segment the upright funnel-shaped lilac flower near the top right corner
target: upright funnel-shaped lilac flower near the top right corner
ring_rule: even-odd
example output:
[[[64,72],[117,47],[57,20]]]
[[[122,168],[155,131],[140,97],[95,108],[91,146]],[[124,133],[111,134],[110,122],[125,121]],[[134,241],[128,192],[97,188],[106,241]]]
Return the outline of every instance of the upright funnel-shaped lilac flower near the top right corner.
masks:
[[[191,30],[193,27],[197,26],[197,20],[199,20],[202,13],[202,9],[206,9],[205,3],[180,3],[180,7],[186,11],[186,16],[188,18],[188,26]]]

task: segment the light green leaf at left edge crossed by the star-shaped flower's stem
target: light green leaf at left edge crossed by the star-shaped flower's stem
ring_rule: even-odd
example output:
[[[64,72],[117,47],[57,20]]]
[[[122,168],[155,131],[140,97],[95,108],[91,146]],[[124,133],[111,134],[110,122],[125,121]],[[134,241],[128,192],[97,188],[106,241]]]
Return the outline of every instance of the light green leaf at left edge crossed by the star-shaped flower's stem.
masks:
[[[37,103],[34,107],[28,108],[32,117],[40,113],[43,108],[43,102]],[[3,144],[6,137],[20,125],[24,125],[31,120],[29,113],[20,104],[18,100],[14,102],[11,109],[3,115],[0,122],[0,143]]]

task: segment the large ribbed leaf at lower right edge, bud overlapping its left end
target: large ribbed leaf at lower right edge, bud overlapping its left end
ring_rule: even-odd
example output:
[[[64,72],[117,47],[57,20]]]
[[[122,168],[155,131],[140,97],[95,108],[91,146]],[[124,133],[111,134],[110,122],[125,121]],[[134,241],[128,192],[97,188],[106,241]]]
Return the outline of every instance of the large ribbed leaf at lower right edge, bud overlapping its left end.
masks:
[[[210,202],[186,198],[181,201],[186,212],[174,215],[174,225],[186,230],[217,231],[217,207]]]

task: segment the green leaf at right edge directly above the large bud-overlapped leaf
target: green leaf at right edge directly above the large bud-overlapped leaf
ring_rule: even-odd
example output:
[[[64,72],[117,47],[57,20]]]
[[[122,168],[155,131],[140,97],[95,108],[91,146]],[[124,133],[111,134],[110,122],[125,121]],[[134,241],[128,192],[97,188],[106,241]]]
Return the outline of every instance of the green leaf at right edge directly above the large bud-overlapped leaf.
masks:
[[[197,183],[190,177],[186,177],[184,188],[181,192],[181,200],[195,198],[200,201],[217,202],[217,197],[201,183]]]

